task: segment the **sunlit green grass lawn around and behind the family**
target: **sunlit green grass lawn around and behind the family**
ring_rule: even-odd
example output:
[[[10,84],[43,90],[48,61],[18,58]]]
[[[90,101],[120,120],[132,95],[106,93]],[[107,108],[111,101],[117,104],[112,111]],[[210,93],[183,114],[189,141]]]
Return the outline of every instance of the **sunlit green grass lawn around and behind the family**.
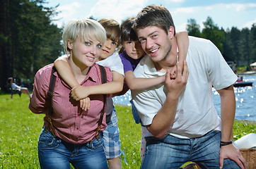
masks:
[[[37,158],[37,139],[42,129],[44,115],[28,109],[29,98],[25,94],[0,94],[0,168],[40,168]],[[128,165],[139,168],[141,164],[141,127],[132,118],[131,108],[116,106],[120,127],[121,148]],[[255,124],[235,120],[234,140],[255,132]]]

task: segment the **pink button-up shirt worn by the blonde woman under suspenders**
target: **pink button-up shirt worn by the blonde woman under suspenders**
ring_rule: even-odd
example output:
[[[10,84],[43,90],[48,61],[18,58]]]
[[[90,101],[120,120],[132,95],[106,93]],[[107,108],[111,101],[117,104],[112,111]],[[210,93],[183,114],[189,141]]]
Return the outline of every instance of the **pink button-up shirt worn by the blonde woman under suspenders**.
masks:
[[[45,113],[47,111],[47,92],[49,89],[50,76],[53,64],[46,65],[37,71],[35,75],[35,84],[33,95],[30,99],[29,108],[33,113]],[[107,82],[112,82],[112,73],[109,68],[105,67]],[[56,84],[52,97],[52,124],[55,127],[57,137],[66,142],[74,144],[84,144],[91,141],[95,136],[95,129],[98,127],[100,111],[103,109],[103,95],[91,95],[91,107],[88,111],[83,111],[79,106],[79,101],[71,98],[69,87],[57,72],[54,73]],[[91,69],[83,80],[81,85],[93,86],[101,84],[100,68],[98,64],[91,66]],[[111,95],[107,95],[109,97]],[[47,127],[47,118],[44,118]],[[105,130],[105,113],[101,131]]]

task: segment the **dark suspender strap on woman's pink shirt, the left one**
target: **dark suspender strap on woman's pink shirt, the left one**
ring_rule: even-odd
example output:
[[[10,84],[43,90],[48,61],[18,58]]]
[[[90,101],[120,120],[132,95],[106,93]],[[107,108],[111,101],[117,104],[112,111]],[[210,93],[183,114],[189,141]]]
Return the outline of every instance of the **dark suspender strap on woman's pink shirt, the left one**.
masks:
[[[50,130],[52,132],[52,134],[54,136],[56,136],[55,132],[54,132],[54,127],[52,125],[52,96],[53,96],[53,90],[55,87],[55,82],[56,82],[56,76],[53,75],[54,72],[56,72],[56,68],[52,67],[52,73],[51,73],[51,77],[50,77],[50,84],[49,84],[49,90],[47,92],[47,96],[48,96],[48,111],[47,111],[47,120],[50,124]]]

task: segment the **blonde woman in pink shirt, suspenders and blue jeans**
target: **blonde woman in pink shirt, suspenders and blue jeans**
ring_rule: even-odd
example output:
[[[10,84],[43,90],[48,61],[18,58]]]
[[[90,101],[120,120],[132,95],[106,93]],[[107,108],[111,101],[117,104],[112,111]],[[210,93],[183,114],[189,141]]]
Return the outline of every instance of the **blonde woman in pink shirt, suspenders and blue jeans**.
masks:
[[[71,20],[64,27],[62,39],[78,84],[85,87],[103,84],[105,78],[102,80],[102,77],[112,82],[110,69],[95,63],[107,39],[100,23],[91,19]],[[71,164],[74,168],[108,168],[102,138],[107,126],[105,96],[90,95],[91,106],[84,110],[79,101],[70,96],[71,87],[57,72],[52,73],[53,66],[46,65],[37,71],[29,104],[33,113],[46,114],[37,147],[40,167],[62,169],[70,168]],[[101,68],[105,73],[101,73]],[[53,77],[55,87],[50,92]]]

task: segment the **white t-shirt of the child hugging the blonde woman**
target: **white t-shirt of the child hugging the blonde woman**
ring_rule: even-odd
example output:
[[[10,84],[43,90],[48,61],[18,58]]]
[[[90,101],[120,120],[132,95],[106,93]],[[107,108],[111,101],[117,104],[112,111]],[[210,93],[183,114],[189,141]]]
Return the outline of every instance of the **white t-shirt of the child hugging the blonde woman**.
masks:
[[[124,76],[124,66],[122,65],[121,58],[117,53],[114,53],[111,56],[105,58],[104,60],[98,61],[97,63],[99,65],[107,66],[108,68],[110,68],[111,71],[115,71]],[[112,110],[113,110],[113,100],[112,98],[108,97],[106,114],[107,115],[110,114]]]

